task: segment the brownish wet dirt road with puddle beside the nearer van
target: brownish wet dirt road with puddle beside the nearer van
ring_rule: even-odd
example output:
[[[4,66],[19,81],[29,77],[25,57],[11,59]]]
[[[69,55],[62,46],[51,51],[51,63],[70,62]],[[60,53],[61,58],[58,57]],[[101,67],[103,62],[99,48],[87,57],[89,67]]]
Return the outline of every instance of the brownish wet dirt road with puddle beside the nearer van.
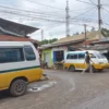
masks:
[[[45,73],[50,80],[31,84],[26,95],[0,96],[0,109],[109,109],[109,70],[83,75],[51,70]]]

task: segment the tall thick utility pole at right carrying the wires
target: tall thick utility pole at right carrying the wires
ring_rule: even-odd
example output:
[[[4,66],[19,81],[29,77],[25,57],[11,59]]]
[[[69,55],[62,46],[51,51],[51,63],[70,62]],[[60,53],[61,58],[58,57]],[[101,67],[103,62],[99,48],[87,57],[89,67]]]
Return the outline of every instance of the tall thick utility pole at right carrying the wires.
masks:
[[[98,31],[99,31],[99,39],[101,39],[101,4],[100,0],[98,0]]]

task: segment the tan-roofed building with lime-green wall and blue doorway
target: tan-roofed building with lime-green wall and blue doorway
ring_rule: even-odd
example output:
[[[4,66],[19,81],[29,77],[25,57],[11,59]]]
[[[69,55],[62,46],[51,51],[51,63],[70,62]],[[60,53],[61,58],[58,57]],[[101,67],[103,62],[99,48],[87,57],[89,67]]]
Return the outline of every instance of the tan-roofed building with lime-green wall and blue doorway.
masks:
[[[52,66],[55,62],[64,60],[68,51],[86,49],[85,45],[88,47],[97,40],[99,40],[98,32],[87,33],[86,40],[84,34],[61,38],[51,45],[40,47],[43,61],[47,62],[48,66]]]

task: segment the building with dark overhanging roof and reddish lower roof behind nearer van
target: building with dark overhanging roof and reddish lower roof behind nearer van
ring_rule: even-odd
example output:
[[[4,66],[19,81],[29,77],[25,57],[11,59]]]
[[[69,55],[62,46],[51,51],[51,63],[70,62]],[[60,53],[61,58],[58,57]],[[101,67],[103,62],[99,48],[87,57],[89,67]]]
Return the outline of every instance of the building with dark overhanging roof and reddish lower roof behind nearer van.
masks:
[[[32,41],[38,45],[37,40],[28,37],[37,29],[39,28],[0,19],[0,41]]]

